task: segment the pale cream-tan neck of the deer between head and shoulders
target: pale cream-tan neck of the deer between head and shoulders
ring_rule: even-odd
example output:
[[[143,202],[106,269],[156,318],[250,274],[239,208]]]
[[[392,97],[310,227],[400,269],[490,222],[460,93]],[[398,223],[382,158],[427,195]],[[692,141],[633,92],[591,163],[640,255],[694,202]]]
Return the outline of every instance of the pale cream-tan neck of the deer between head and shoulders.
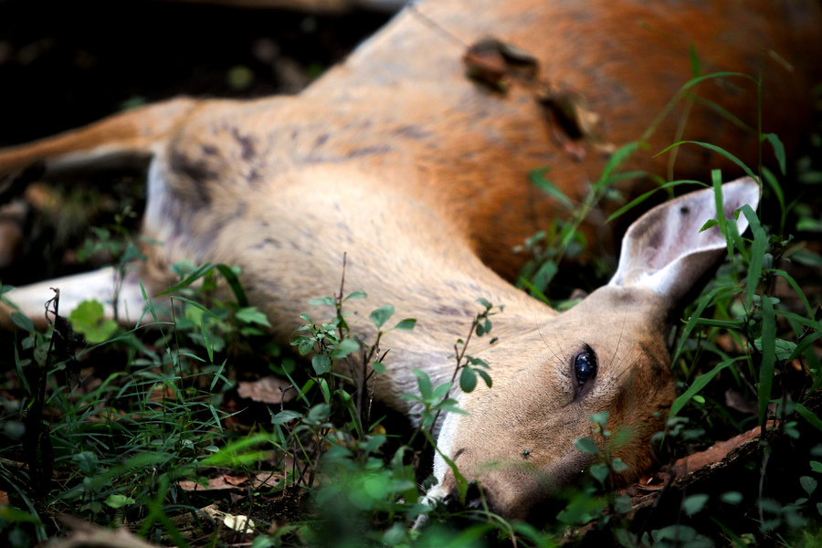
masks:
[[[300,313],[317,324],[329,321],[333,309],[309,300],[339,294],[341,283],[343,297],[354,290],[368,294],[342,307],[352,333],[366,344],[376,336],[369,320],[374,309],[395,307],[384,331],[416,319],[413,332],[389,332],[381,342],[390,349],[385,366],[402,373],[379,375],[376,392],[402,402],[397,394],[417,392],[412,367],[427,371],[435,384],[450,380],[456,364],[449,356],[485,310],[480,298],[504,308],[491,318],[489,337],[474,334],[469,353],[488,347],[491,336],[505,341],[536,331],[556,312],[483,265],[457,222],[378,179],[342,166],[303,170],[279,181],[276,192],[247,199],[246,213],[212,248],[215,260],[241,265],[249,296],[266,303],[280,341],[305,323]]]

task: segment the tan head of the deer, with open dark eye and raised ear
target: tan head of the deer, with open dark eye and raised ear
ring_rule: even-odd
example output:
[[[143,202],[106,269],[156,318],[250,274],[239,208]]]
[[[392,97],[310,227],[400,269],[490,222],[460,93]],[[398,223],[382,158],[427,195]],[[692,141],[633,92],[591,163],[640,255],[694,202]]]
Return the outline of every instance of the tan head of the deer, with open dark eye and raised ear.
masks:
[[[722,186],[722,215],[758,202],[751,179]],[[650,437],[665,425],[674,386],[668,340],[672,321],[703,286],[722,255],[714,192],[701,190],[650,210],[627,231],[617,273],[569,311],[535,332],[479,353],[491,366],[493,387],[458,396],[469,415],[446,417],[435,457],[439,484],[431,499],[457,498],[446,456],[476,487],[490,511],[540,521],[553,493],[595,461],[574,440],[603,446],[590,416],[606,411],[607,455],[621,458],[625,481],[650,464]],[[744,217],[738,230],[747,227]],[[498,365],[495,368],[495,364]]]

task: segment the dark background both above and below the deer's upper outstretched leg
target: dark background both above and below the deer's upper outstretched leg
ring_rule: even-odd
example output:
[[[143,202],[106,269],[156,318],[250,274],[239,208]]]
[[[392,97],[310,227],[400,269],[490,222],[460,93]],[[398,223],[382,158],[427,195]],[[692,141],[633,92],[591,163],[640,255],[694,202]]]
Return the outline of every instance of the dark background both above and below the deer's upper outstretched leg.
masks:
[[[0,0],[0,147],[179,95],[256,98],[297,93],[390,14],[311,15],[152,0]],[[0,280],[25,285],[110,263],[78,259],[89,227],[144,205],[144,171],[35,176],[24,216],[0,211]],[[139,215],[127,219],[136,232]],[[12,226],[9,232],[5,227]]]

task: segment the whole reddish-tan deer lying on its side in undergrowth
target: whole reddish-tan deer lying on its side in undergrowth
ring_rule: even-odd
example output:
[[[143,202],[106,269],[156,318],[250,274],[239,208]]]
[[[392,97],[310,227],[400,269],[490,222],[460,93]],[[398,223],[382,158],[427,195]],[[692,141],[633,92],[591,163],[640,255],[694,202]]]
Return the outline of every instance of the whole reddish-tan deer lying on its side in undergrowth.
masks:
[[[135,323],[141,283],[154,295],[181,259],[225,263],[240,267],[271,336],[288,342],[307,301],[335,292],[345,254],[347,287],[369,295],[351,301],[351,318],[390,303],[417,320],[413,332],[386,340],[387,371],[374,385],[376,399],[412,420],[420,408],[402,397],[417,391],[412,369],[448,382],[448,354],[476,300],[504,304],[495,342],[474,349],[490,364],[492,386],[459,393],[468,415],[437,425],[437,485],[427,500],[457,497],[450,461],[481,486],[491,511],[540,519],[594,461],[574,439],[591,436],[595,413],[606,411],[607,427],[626,434],[612,450],[627,464],[620,481],[652,464],[650,437],[675,396],[671,327],[727,254],[718,228],[701,227],[723,216],[742,232],[747,221],[734,212],[755,209],[760,188],[744,178],[719,195],[706,189],[657,205],[627,229],[613,278],[560,312],[511,285],[525,260],[513,249],[567,215],[530,174],[549,167],[553,184],[579,202],[618,147],[645,143],[625,164],[631,176],[614,184],[616,197],[584,226],[606,253],[608,211],[653,177],[706,180],[711,169],[736,167],[699,146],[658,154],[671,142],[712,142],[756,163],[761,101],[761,131],[779,132],[796,152],[812,108],[820,22],[819,5],[803,0],[676,9],[627,0],[419,2],[296,96],[176,98],[0,151],[2,174],[32,163],[43,163],[46,177],[145,163],[142,235],[157,242],[126,275],[116,311],[111,268],[7,297],[42,321],[48,288],[59,288],[63,310],[96,299]],[[697,64],[701,74],[754,79],[704,79],[686,93]],[[671,103],[678,96],[685,100]],[[368,321],[352,329],[374,336]],[[466,504],[478,497],[469,493]]]

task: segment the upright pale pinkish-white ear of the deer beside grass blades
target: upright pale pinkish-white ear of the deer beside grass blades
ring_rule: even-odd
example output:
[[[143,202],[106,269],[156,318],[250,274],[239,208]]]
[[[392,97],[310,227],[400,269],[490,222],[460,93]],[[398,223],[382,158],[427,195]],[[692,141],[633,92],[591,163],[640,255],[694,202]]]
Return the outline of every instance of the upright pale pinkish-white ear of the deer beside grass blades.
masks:
[[[722,184],[723,215],[730,222],[737,209],[745,204],[755,209],[758,203],[759,185],[754,179]],[[672,300],[674,306],[701,289],[701,282],[726,249],[718,226],[700,232],[716,214],[711,188],[654,207],[627,229],[617,273],[608,285],[648,288]],[[748,227],[745,216],[735,222],[740,234]]]

